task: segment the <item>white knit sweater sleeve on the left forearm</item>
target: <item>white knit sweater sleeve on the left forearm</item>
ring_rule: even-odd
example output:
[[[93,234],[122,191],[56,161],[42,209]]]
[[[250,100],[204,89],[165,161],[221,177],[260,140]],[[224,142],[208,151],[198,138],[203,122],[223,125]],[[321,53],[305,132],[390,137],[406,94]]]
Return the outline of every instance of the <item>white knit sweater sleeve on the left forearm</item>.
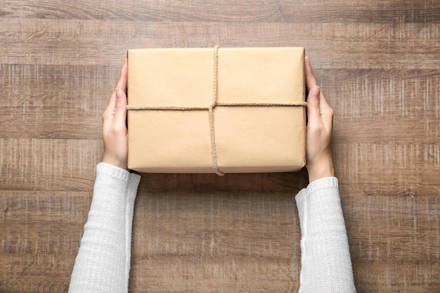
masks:
[[[108,164],[96,167],[93,200],[69,292],[127,292],[139,180],[140,176]]]

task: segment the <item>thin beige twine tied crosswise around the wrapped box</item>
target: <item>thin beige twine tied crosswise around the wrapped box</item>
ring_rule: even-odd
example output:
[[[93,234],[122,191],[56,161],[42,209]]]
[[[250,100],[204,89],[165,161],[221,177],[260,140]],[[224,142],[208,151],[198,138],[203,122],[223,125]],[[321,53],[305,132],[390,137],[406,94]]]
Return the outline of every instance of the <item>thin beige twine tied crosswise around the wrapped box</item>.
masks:
[[[297,103],[218,103],[217,102],[217,85],[218,85],[218,67],[219,67],[219,48],[220,46],[214,47],[214,92],[212,103],[209,107],[175,107],[175,106],[141,106],[141,105],[128,105],[127,110],[171,110],[171,111],[193,111],[193,110],[208,110],[209,112],[209,134],[211,136],[211,154],[212,154],[212,169],[219,176],[224,176],[224,173],[219,170],[217,166],[217,152],[215,146],[215,134],[214,134],[214,108],[217,106],[222,107],[305,107],[306,102]]]

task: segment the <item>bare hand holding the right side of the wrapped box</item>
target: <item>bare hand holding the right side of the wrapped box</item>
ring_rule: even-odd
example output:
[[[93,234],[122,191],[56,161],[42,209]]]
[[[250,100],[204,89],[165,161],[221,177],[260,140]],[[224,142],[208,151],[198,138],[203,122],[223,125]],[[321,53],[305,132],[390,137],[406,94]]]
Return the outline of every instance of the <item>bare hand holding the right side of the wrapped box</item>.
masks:
[[[333,110],[316,84],[309,58],[305,60],[307,96],[306,168],[309,182],[335,176],[332,161]]]

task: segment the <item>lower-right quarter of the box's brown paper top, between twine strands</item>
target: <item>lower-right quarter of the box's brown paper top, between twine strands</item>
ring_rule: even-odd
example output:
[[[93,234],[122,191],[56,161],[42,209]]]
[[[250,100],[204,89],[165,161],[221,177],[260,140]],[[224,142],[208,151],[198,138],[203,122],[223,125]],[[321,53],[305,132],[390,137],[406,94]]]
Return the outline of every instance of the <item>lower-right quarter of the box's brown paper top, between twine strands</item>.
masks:
[[[302,166],[304,108],[218,108],[214,115],[220,171],[234,166]]]

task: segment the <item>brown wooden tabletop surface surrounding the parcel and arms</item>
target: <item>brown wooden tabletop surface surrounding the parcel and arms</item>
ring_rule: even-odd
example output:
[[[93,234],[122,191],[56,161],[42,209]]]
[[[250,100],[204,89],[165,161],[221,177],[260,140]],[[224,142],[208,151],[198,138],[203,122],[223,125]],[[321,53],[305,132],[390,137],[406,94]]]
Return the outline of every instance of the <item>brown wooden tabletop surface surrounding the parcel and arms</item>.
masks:
[[[127,48],[305,46],[358,292],[440,292],[440,1],[0,0],[0,292],[67,292]],[[297,292],[297,174],[142,177],[130,292]]]

